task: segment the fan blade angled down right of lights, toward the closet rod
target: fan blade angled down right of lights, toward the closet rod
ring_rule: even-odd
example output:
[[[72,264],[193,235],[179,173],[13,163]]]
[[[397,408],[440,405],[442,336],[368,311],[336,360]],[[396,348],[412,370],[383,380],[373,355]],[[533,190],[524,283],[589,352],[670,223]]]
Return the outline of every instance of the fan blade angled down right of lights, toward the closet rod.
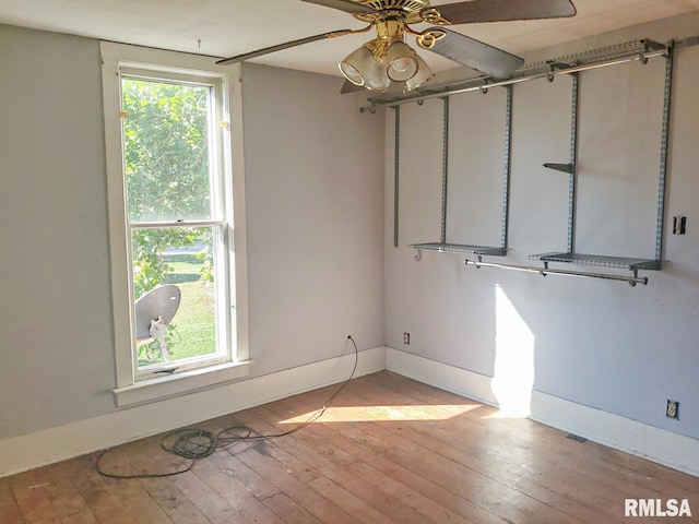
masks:
[[[524,63],[523,58],[445,27],[430,27],[427,31],[445,32],[446,35],[436,38],[431,46],[422,47],[494,79],[506,79]]]

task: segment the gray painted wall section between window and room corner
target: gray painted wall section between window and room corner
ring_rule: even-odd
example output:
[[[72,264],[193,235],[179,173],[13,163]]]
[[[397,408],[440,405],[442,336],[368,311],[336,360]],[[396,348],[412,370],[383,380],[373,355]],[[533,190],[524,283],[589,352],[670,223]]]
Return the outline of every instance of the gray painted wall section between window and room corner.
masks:
[[[341,84],[242,70],[256,373],[383,345],[383,121]]]

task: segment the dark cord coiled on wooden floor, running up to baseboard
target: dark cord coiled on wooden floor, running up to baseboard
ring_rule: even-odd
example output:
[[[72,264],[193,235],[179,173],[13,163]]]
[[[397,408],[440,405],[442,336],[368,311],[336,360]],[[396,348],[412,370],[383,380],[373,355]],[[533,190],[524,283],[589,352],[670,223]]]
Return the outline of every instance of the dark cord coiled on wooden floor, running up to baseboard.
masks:
[[[354,342],[352,335],[348,335],[347,340],[351,341],[352,345],[354,346],[354,367],[352,368],[350,377],[340,385],[340,388],[335,390],[332,395],[328,397],[321,408],[311,414],[298,426],[295,426],[292,429],[280,433],[259,433],[258,431],[245,425],[232,426],[229,428],[222,429],[217,433],[198,428],[177,429],[163,437],[163,439],[161,440],[161,448],[168,453],[173,453],[183,458],[190,458],[191,462],[187,467],[166,473],[141,473],[133,475],[109,473],[106,472],[102,466],[102,458],[111,451],[110,448],[107,448],[97,457],[97,473],[109,478],[153,478],[180,475],[182,473],[189,472],[197,460],[212,455],[216,450],[225,449],[242,441],[277,439],[280,437],[286,437],[287,434],[292,434],[304,429],[306,426],[315,422],[323,416],[328,407],[330,407],[330,404],[335,400],[340,392],[342,392],[342,390],[346,388],[350,381],[354,378],[354,373],[357,371],[357,365],[359,362],[359,350],[357,349],[357,344]]]

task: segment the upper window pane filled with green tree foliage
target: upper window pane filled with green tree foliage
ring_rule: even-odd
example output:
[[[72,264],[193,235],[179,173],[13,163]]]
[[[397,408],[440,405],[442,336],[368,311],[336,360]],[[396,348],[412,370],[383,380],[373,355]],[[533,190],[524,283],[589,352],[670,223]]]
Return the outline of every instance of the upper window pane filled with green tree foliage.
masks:
[[[129,222],[211,218],[209,86],[121,80]]]

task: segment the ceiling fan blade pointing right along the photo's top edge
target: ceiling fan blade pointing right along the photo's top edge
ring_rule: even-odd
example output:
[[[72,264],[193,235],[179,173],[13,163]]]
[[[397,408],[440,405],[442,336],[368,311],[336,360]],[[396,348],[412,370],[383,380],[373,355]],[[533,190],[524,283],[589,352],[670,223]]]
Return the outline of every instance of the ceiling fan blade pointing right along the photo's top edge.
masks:
[[[574,16],[570,0],[472,0],[434,5],[452,24]]]

